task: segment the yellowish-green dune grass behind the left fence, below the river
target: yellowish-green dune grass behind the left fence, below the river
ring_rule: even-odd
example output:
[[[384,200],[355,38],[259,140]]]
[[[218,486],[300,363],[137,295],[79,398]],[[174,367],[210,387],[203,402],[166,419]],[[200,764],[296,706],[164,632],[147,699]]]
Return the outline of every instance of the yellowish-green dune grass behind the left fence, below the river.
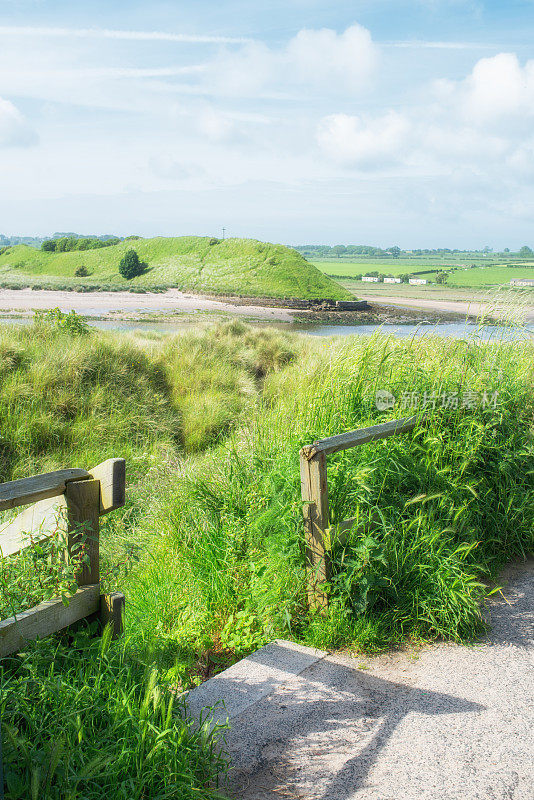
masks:
[[[214,444],[294,356],[277,331],[220,324],[145,340],[50,326],[0,331],[0,480],[120,453],[142,472]]]

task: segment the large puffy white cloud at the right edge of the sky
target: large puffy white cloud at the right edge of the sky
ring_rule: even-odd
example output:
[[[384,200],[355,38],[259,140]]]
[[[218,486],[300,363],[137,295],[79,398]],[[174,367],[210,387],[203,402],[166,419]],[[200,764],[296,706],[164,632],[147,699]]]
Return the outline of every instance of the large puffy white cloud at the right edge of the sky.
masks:
[[[317,126],[323,155],[377,174],[487,176],[524,183],[533,174],[534,61],[500,53],[460,81],[436,81],[417,105],[375,115],[330,114]],[[400,171],[400,172],[399,172]]]

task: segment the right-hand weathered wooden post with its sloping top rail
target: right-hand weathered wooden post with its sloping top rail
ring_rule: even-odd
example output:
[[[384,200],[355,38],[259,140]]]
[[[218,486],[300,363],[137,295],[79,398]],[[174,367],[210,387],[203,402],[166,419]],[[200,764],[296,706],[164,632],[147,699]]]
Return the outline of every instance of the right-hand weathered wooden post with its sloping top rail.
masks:
[[[324,609],[328,604],[328,596],[322,584],[327,583],[331,577],[332,536],[342,538],[343,534],[351,530],[357,522],[357,518],[353,517],[338,523],[335,530],[330,527],[326,456],[368,442],[387,439],[389,436],[407,433],[413,430],[421,419],[421,416],[395,419],[370,428],[341,433],[306,445],[300,451],[308,603],[311,608]]]

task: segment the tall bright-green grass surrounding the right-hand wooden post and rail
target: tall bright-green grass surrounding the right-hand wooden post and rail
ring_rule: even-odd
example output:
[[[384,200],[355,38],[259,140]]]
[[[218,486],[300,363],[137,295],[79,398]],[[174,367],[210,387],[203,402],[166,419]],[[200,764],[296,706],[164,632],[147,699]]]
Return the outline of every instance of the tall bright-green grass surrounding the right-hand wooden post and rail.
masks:
[[[136,613],[154,618],[163,606],[162,639],[238,653],[276,635],[371,650],[477,635],[485,582],[532,548],[533,354],[476,337],[309,345],[266,380],[247,431],[162,491],[147,520],[158,540],[131,587]],[[498,392],[497,407],[438,400],[412,435],[329,459],[332,521],[380,521],[335,547],[329,614],[310,616],[298,450],[390,418],[376,409],[379,388],[398,398]]]

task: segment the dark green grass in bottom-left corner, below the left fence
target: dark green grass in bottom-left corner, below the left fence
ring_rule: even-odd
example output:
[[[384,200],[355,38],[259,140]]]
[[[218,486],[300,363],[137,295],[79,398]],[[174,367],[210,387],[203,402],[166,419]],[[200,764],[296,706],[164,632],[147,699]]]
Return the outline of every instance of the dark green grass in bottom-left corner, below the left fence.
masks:
[[[132,671],[110,632],[48,639],[2,662],[9,800],[214,800],[217,732],[193,730],[157,672]]]

